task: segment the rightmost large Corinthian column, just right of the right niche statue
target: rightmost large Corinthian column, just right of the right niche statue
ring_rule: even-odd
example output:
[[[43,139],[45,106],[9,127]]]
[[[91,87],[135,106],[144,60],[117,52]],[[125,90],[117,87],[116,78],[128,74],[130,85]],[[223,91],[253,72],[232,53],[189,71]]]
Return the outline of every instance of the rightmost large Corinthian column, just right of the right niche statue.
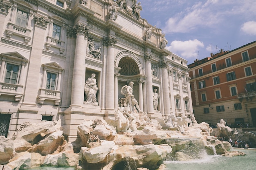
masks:
[[[168,86],[168,62],[160,62],[162,68],[162,83],[163,83],[163,98],[164,98],[164,115],[169,115],[170,110],[170,97],[169,97],[169,86]]]

